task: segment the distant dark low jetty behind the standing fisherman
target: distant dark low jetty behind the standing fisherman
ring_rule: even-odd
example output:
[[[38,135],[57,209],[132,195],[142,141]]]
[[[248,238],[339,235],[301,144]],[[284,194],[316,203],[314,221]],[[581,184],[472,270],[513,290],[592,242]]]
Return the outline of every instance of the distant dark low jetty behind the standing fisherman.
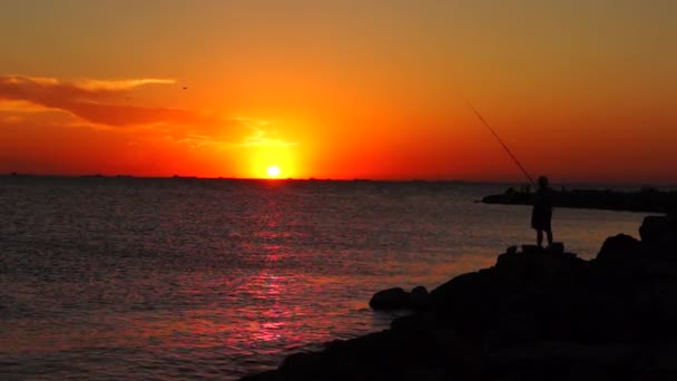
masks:
[[[503,194],[482,198],[485,204],[533,205],[533,193],[508,188]],[[677,212],[677,192],[644,188],[637,192],[598,189],[560,189],[555,194],[555,206],[588,209],[644,213]]]

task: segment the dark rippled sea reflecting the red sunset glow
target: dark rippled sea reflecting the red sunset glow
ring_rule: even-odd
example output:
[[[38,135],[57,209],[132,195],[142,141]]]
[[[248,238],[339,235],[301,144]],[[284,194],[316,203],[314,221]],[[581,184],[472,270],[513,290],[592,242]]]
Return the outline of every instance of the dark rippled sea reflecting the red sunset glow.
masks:
[[[237,379],[533,243],[510,184],[0,177],[0,379]],[[519,185],[517,185],[519,187]],[[642,213],[555,211],[593,257]]]

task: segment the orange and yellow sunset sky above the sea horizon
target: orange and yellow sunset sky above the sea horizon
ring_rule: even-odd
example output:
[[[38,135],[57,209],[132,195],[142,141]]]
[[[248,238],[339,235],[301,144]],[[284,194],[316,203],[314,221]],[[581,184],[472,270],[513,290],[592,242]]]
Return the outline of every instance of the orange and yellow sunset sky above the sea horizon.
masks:
[[[677,183],[677,1],[2,0],[0,173]]]

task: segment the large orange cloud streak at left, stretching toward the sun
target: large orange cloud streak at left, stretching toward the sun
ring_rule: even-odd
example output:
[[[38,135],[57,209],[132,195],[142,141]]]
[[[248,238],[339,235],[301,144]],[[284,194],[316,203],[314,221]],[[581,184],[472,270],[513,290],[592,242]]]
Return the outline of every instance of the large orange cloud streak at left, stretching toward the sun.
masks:
[[[61,111],[76,118],[75,125],[92,128],[129,128],[155,131],[156,136],[192,147],[291,146],[269,137],[269,121],[224,117],[215,113],[174,107],[119,104],[127,91],[146,85],[171,85],[174,79],[122,80],[0,76],[0,111],[12,114]],[[4,120],[7,121],[7,120]]]

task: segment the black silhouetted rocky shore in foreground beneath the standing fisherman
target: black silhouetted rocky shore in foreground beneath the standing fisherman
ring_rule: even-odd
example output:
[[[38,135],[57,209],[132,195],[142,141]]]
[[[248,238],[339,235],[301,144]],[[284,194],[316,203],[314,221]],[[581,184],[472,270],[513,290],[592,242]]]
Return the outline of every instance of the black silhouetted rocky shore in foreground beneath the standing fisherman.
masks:
[[[677,217],[639,234],[590,261],[524,245],[430,293],[382,291],[372,307],[412,313],[242,380],[677,380]]]

